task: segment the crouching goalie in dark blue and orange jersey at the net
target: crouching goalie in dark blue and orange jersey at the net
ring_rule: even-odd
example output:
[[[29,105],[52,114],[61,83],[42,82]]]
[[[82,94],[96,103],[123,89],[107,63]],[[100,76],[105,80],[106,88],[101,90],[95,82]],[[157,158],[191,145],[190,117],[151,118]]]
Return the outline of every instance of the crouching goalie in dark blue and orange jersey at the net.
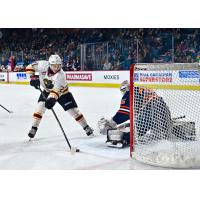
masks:
[[[129,83],[120,86],[120,108],[111,119],[98,121],[100,134],[107,135],[108,146],[124,147],[130,144]],[[194,140],[194,122],[172,119],[169,107],[163,98],[152,89],[134,88],[134,118],[136,144],[147,144],[161,139]],[[184,116],[185,117],[185,116]],[[180,117],[183,118],[183,117]]]

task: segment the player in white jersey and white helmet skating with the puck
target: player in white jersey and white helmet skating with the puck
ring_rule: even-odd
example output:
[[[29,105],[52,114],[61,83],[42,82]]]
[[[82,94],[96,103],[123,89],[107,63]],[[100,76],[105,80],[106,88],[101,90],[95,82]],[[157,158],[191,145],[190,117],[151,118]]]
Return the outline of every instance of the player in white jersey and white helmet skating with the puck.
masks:
[[[39,75],[35,75],[35,72],[38,72]],[[41,84],[44,88],[33,113],[32,127],[28,133],[30,138],[35,137],[46,109],[53,108],[56,102],[83,127],[88,136],[93,135],[93,129],[87,124],[72,93],[69,91],[66,76],[62,70],[62,60],[58,55],[51,55],[48,61],[41,60],[28,65],[26,73],[31,74],[31,86],[38,89]]]

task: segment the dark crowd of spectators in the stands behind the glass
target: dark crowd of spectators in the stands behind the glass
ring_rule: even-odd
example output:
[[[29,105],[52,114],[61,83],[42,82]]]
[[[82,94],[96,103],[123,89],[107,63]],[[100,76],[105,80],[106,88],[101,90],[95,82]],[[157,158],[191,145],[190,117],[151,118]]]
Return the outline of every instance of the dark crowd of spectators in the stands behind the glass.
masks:
[[[200,29],[32,28],[0,29],[0,71],[23,71],[59,54],[63,69],[128,70],[131,63],[193,63],[200,57]]]

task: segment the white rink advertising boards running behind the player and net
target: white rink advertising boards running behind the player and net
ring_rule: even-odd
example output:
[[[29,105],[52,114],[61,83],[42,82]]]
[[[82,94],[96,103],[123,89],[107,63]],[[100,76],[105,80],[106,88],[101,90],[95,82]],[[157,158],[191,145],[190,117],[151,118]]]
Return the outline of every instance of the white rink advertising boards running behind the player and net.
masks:
[[[129,80],[129,71],[70,71],[65,72],[66,80],[74,86],[118,87]],[[30,75],[25,72],[0,73],[0,83],[28,84]],[[153,85],[194,85],[199,86],[197,70],[137,71],[136,83]]]

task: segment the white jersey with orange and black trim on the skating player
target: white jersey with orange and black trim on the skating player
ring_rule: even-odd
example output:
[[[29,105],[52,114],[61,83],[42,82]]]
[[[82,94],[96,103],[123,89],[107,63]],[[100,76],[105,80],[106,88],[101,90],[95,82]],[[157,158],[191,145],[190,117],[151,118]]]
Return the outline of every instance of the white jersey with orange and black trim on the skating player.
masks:
[[[48,97],[58,99],[62,94],[68,92],[68,84],[66,81],[65,73],[60,69],[57,73],[50,73],[50,64],[46,60],[34,62],[26,67],[26,73],[35,75],[39,73],[40,84],[47,91],[50,92]],[[52,89],[47,88],[47,82],[51,81],[53,84]]]

